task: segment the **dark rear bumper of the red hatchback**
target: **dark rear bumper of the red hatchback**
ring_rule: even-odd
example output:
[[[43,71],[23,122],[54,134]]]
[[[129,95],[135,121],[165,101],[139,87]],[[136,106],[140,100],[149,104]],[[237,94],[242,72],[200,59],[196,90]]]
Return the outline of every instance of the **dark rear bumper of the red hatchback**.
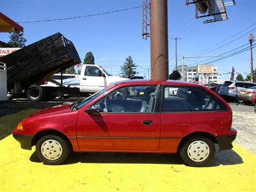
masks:
[[[236,140],[236,129],[232,128],[228,136],[216,136],[219,143],[219,150],[228,150],[233,148],[232,142]]]

